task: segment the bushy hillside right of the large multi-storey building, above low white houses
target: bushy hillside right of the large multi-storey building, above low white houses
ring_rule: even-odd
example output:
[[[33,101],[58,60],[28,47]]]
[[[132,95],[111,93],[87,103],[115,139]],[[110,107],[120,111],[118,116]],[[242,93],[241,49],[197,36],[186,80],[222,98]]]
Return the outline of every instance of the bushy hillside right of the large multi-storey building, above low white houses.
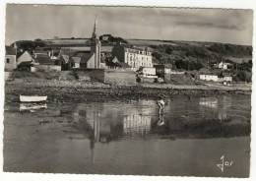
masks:
[[[213,74],[231,74],[234,81],[251,82],[252,46],[170,40],[128,39],[129,44],[151,47],[154,63],[172,64],[173,69]],[[214,64],[229,62],[229,71],[217,70]],[[173,83],[175,82],[172,81]]]

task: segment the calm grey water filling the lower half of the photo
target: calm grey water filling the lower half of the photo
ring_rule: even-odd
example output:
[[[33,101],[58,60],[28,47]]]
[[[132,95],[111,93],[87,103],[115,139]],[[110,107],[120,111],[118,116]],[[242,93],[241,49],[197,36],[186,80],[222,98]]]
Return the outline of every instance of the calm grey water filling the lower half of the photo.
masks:
[[[5,105],[4,170],[247,177],[250,96]],[[224,158],[224,169],[217,166]]]

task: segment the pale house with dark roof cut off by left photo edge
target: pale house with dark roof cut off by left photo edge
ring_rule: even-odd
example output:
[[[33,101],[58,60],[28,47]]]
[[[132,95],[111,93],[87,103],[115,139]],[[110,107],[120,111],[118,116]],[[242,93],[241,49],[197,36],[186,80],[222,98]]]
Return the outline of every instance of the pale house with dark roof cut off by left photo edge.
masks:
[[[5,46],[5,71],[13,71],[17,68],[16,49]]]

